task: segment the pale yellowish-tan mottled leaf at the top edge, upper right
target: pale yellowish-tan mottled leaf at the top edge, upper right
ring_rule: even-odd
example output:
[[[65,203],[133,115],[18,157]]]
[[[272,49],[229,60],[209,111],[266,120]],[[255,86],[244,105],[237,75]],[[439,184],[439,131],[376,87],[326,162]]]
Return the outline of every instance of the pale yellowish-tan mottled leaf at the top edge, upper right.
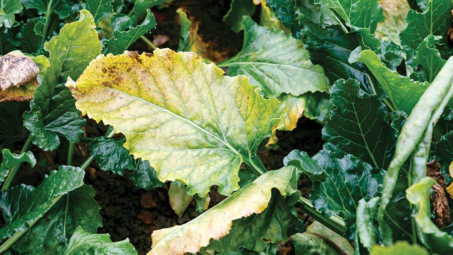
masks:
[[[380,0],[386,19],[378,23],[376,35],[382,40],[392,41],[398,45],[400,42],[400,33],[406,29],[406,17],[409,12],[409,4],[406,0]]]

